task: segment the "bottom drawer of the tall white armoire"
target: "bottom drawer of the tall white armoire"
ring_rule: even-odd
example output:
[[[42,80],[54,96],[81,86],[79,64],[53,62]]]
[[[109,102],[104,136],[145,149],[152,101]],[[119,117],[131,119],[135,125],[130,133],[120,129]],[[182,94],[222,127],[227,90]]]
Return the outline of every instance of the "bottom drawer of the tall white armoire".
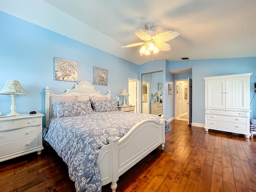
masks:
[[[246,124],[207,120],[207,126],[228,130],[246,131]]]

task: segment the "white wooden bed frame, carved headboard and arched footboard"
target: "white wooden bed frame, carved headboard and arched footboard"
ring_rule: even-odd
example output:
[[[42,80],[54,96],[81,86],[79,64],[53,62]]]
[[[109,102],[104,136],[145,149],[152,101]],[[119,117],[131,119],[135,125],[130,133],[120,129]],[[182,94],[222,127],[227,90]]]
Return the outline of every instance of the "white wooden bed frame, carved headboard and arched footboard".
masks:
[[[67,89],[64,94],[53,94],[49,87],[45,90],[45,118],[46,123],[52,117],[52,106],[50,97],[77,96],[77,100],[86,101],[91,96],[107,96],[110,99],[111,93],[102,95],[88,81],[81,81],[74,86],[74,89]],[[116,130],[112,130],[108,138],[109,144],[102,146],[98,154],[97,163],[100,170],[102,186],[111,184],[112,192],[116,191],[118,177],[138,163],[158,146],[164,149],[165,143],[165,119],[162,115],[160,122],[154,120],[143,120],[133,126],[128,133],[119,138]]]

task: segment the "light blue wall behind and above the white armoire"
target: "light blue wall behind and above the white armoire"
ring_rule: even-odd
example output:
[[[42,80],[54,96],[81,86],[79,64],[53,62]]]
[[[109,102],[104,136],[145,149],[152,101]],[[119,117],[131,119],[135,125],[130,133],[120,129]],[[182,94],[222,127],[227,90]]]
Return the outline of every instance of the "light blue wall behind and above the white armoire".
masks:
[[[192,122],[204,124],[205,121],[204,77],[240,73],[253,73],[250,77],[250,101],[252,101],[250,105],[250,109],[252,110],[250,118],[256,118],[256,96],[252,100],[254,95],[254,82],[256,82],[256,57],[172,61],[169,62],[168,69],[166,70],[172,71],[186,68],[192,68]],[[184,78],[184,76],[181,76],[180,79]],[[175,80],[178,79],[175,78]]]

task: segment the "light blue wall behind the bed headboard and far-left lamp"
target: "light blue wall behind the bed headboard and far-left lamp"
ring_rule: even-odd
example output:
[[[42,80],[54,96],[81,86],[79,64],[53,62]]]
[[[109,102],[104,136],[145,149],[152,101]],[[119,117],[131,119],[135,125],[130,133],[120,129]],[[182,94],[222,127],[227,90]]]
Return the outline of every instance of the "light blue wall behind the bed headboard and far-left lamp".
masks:
[[[30,22],[0,12],[0,89],[7,80],[18,80],[29,95],[16,97],[16,111],[44,114],[44,90],[56,94],[72,89],[77,82],[54,80],[54,57],[78,63],[78,82],[93,83],[93,67],[108,70],[108,86],[94,85],[112,99],[128,88],[128,78],[139,79],[139,66],[92,48]],[[123,73],[125,71],[125,73]],[[117,83],[118,82],[118,83]],[[10,112],[11,97],[0,95],[0,112]]]

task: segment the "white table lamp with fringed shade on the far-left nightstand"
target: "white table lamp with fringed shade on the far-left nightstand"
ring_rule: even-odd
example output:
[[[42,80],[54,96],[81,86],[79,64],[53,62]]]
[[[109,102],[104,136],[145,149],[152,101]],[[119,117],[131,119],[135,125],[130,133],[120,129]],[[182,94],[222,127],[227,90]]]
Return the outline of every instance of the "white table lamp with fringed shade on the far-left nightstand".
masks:
[[[16,105],[15,105],[15,99],[16,95],[27,95],[28,92],[26,92],[20,83],[15,80],[8,80],[0,91],[0,95],[10,95],[12,98],[12,105],[11,105],[11,112],[7,114],[6,116],[18,116],[19,113],[16,112]]]

